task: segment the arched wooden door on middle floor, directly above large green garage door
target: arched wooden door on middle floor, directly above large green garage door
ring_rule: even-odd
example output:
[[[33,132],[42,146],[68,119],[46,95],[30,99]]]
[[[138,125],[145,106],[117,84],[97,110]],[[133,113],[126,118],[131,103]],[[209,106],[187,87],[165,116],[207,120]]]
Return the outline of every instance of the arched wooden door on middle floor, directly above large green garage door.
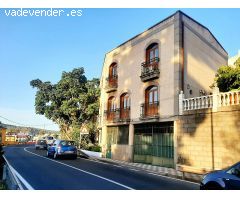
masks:
[[[158,114],[158,87],[151,86],[145,92],[145,115],[155,116]]]

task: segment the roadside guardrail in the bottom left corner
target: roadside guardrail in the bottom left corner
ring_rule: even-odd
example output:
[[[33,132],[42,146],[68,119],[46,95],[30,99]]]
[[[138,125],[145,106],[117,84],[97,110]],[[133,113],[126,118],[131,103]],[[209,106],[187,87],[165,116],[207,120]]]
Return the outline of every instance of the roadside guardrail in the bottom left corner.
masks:
[[[3,181],[9,190],[33,190],[33,188],[24,180],[24,178],[9,164],[6,157],[3,169]]]

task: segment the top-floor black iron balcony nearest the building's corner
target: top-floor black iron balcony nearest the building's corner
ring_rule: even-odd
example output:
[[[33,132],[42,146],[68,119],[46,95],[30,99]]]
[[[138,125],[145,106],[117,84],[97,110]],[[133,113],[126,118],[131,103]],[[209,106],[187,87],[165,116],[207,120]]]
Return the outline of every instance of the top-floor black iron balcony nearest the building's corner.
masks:
[[[143,82],[159,78],[160,71],[159,71],[159,58],[153,58],[150,61],[143,62],[141,64],[142,70],[141,70],[141,80]]]

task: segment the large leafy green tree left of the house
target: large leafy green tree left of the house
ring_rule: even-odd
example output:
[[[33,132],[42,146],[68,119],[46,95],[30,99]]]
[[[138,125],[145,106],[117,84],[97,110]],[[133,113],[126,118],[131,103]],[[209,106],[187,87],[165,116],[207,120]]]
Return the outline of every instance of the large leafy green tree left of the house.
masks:
[[[63,72],[57,84],[32,80],[37,88],[35,110],[60,127],[62,137],[74,139],[83,123],[96,123],[99,109],[99,80],[87,80],[84,69]]]

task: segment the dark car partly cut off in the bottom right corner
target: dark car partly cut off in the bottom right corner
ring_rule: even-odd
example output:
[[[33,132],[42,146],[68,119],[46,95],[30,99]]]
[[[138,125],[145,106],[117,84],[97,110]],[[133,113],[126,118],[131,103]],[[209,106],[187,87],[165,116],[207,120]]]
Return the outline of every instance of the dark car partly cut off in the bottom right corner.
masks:
[[[206,174],[200,183],[202,190],[239,190],[240,189],[240,162],[227,169]]]

